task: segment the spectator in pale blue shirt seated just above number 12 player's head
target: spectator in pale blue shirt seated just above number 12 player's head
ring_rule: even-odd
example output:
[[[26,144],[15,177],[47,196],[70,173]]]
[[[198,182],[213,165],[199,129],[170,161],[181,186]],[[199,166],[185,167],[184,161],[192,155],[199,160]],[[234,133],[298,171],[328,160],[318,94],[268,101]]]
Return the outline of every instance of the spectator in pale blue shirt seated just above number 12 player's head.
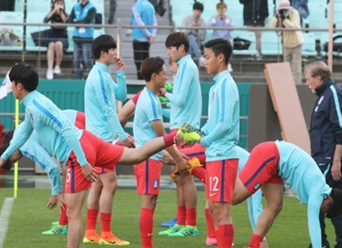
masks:
[[[218,27],[218,28],[230,28],[235,25],[234,19],[226,15],[227,12],[227,4],[220,0],[220,3],[216,5],[216,9],[218,10],[218,14],[214,15],[209,19],[208,26]],[[233,37],[231,36],[230,30],[214,30],[213,35],[211,36],[211,40],[222,38],[225,40],[229,40],[230,44],[233,46]],[[231,64],[228,64],[229,72],[233,72]]]

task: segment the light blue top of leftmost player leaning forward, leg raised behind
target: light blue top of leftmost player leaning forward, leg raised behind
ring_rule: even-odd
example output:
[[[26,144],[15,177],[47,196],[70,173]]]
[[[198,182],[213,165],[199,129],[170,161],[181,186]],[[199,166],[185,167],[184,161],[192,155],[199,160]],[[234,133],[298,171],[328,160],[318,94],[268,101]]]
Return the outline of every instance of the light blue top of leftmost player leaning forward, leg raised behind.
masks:
[[[79,142],[83,131],[77,129],[50,99],[33,90],[22,99],[21,104],[26,107],[25,119],[20,129],[17,129],[18,135],[11,140],[1,158],[7,160],[22,147],[34,129],[44,149],[55,156],[60,164],[66,165],[71,151],[74,151],[81,166],[88,164]]]

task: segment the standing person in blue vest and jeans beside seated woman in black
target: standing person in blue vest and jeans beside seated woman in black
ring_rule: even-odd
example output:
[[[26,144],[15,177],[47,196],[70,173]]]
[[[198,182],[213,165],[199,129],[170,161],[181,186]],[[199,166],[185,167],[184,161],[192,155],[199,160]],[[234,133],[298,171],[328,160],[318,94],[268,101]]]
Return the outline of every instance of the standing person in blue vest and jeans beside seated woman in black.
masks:
[[[95,24],[96,8],[89,0],[81,0],[72,8],[69,22],[74,24]],[[82,58],[88,71],[92,69],[92,40],[94,40],[93,27],[77,27],[74,29],[74,70],[75,78],[82,79]]]

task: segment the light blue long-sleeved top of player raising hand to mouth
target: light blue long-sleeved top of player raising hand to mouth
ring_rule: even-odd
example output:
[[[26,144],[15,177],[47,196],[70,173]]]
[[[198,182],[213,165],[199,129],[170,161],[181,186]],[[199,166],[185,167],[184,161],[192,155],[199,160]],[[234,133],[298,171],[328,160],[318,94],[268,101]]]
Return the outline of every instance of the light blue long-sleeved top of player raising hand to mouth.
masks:
[[[107,142],[117,138],[127,140],[117,118],[116,100],[127,99],[126,76],[123,71],[116,72],[118,84],[113,81],[109,67],[96,62],[92,67],[84,89],[86,130]]]

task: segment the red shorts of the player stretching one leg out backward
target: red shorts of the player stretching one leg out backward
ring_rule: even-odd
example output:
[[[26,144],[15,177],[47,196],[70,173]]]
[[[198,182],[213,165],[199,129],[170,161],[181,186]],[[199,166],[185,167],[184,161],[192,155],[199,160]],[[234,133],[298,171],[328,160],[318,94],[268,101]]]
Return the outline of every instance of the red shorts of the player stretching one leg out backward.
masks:
[[[113,171],[116,163],[124,153],[124,147],[105,142],[86,130],[83,130],[83,135],[79,142],[81,143],[88,163],[92,167],[104,167],[105,169]],[[88,190],[90,187],[91,183],[83,176],[81,166],[72,151],[67,160],[65,192],[76,193],[82,190]]]

